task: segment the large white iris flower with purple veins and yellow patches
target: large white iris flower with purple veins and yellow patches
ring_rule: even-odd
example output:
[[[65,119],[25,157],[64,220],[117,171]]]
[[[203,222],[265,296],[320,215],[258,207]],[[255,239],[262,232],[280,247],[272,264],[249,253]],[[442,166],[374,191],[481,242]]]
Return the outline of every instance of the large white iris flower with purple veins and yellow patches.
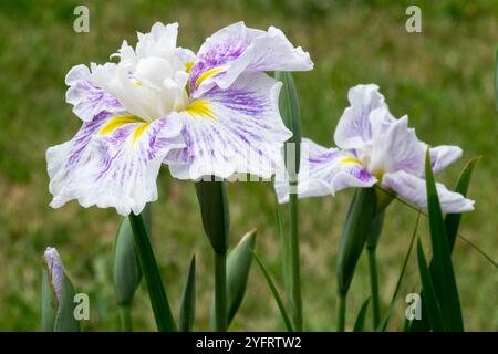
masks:
[[[311,70],[309,54],[276,28],[243,22],[212,34],[197,55],[177,48],[177,23],[155,23],[135,49],[123,42],[116,63],[68,73],[66,101],[83,125],[46,152],[52,207],[77,199],[139,214],[157,199],[163,163],[180,179],[274,173],[291,132],[278,110],[281,83],[263,72]]]

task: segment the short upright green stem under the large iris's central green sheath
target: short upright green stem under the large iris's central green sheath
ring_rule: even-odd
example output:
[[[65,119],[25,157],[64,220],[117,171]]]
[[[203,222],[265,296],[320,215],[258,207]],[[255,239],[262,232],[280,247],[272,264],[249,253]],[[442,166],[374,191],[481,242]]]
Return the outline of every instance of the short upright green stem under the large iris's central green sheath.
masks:
[[[217,332],[227,331],[227,253],[215,252],[215,314]]]

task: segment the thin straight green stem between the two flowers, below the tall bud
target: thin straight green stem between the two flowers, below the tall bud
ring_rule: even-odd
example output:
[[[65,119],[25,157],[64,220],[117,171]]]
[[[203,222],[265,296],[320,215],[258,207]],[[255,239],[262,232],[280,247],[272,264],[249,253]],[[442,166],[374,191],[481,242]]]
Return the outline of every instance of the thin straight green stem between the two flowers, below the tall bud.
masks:
[[[291,189],[297,189],[297,184]],[[302,331],[302,300],[301,300],[301,269],[300,269],[300,252],[299,252],[299,228],[298,228],[298,195],[290,194],[290,251],[291,251],[291,292],[293,304],[293,324],[295,331]]]

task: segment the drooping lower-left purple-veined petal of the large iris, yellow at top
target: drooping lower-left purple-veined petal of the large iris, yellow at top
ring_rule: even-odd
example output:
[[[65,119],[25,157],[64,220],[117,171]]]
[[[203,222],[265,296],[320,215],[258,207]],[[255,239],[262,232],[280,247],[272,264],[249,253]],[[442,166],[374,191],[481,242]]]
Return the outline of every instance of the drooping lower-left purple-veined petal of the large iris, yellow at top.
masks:
[[[131,115],[101,114],[72,140],[46,150],[51,206],[77,199],[87,208],[139,214],[157,199],[156,177],[166,154],[184,145],[175,114],[145,123]]]

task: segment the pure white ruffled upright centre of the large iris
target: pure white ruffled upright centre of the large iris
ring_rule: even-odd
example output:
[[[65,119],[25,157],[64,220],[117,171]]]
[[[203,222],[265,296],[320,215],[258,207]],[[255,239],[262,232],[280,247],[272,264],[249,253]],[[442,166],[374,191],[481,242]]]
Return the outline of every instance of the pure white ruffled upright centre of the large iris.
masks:
[[[177,23],[155,23],[151,32],[138,33],[135,49],[123,42],[112,55],[118,63],[92,64],[92,80],[148,122],[184,110],[189,101],[188,63],[195,55],[176,46],[177,32]]]

